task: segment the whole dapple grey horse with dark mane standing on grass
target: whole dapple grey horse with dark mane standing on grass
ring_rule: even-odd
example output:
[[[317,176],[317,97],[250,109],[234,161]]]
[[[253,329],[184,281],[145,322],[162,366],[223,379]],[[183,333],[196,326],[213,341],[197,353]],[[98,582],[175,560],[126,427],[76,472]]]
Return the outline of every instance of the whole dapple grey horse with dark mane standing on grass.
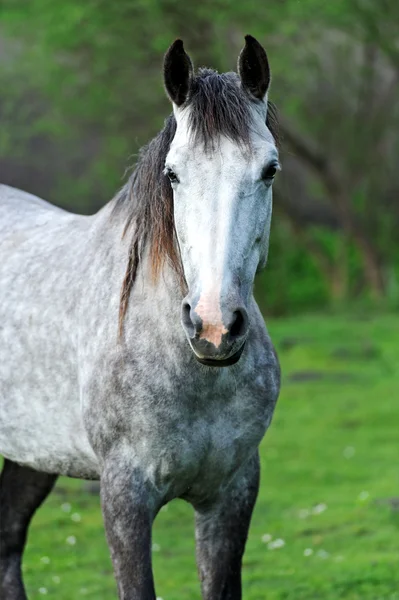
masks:
[[[26,598],[29,522],[59,474],[101,481],[123,600],[154,600],[151,528],[196,513],[203,598],[241,598],[279,366],[253,297],[279,169],[266,53],[164,61],[173,114],[99,213],[0,186],[0,591]],[[71,185],[71,189],[73,186]]]

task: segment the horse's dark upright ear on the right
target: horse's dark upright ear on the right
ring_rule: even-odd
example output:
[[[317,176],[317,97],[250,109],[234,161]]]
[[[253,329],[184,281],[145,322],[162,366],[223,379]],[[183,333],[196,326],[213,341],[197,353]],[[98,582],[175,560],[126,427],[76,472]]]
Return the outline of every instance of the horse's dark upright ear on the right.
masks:
[[[269,61],[263,46],[252,35],[245,36],[245,46],[238,57],[238,74],[249,94],[263,100],[270,84]]]

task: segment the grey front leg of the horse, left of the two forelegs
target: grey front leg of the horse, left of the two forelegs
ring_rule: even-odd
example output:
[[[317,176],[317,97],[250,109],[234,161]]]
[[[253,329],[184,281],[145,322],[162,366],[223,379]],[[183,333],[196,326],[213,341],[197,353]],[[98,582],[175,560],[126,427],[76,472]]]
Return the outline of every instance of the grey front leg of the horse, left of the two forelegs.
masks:
[[[115,460],[103,470],[101,501],[119,598],[155,600],[151,567],[155,509],[148,488],[139,473]]]

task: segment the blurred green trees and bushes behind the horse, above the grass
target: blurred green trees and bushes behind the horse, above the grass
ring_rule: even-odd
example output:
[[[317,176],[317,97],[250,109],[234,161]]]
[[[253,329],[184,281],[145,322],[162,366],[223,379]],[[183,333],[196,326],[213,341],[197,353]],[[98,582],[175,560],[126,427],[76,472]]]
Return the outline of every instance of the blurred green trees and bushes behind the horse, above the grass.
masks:
[[[1,0],[1,181],[95,211],[170,112],[171,41],[231,70],[246,32],[283,134],[263,308],[398,307],[397,0]]]

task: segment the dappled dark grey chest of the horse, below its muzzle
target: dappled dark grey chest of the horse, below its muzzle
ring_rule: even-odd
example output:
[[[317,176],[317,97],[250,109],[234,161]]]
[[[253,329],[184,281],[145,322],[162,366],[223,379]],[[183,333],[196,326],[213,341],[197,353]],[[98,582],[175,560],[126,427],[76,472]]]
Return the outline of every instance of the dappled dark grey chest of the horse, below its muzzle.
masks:
[[[116,362],[115,377],[104,368],[92,379],[84,420],[93,448],[99,456],[115,448],[123,468],[141,473],[162,498],[217,494],[270,423],[276,365],[254,370],[248,360],[240,370],[206,371],[194,363],[171,376],[173,365],[159,361],[150,376],[146,364],[133,372]]]

